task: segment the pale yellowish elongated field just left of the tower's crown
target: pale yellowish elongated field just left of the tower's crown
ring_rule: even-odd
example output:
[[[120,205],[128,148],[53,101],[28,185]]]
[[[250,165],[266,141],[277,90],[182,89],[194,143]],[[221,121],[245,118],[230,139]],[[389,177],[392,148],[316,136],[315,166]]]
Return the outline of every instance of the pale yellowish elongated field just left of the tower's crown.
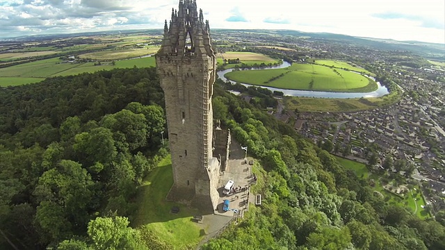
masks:
[[[136,58],[138,56],[147,56],[149,54],[156,53],[158,50],[159,47],[147,47],[144,49],[118,49],[84,53],[79,57],[92,58],[95,60],[120,60],[127,58]]]

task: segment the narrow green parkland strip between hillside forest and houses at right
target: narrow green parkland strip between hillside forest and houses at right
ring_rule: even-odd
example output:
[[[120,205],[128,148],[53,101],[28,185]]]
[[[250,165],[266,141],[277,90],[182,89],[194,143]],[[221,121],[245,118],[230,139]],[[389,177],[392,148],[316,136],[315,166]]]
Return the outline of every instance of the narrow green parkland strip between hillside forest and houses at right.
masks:
[[[425,200],[423,199],[423,195],[420,192],[419,185],[414,185],[414,188],[408,191],[407,194],[405,194],[405,197],[403,197],[401,195],[394,194],[393,192],[385,190],[385,188],[383,188],[382,186],[382,183],[380,183],[380,176],[369,172],[369,170],[363,163],[357,163],[353,160],[348,160],[337,156],[335,158],[337,158],[340,165],[342,165],[346,169],[353,170],[353,172],[355,172],[355,175],[357,175],[359,178],[368,180],[373,179],[375,183],[373,190],[380,192],[380,194],[383,194],[387,203],[391,203],[396,206],[403,206],[404,208],[411,210],[412,213],[420,218],[430,217],[426,210],[421,208],[421,206],[425,206]]]

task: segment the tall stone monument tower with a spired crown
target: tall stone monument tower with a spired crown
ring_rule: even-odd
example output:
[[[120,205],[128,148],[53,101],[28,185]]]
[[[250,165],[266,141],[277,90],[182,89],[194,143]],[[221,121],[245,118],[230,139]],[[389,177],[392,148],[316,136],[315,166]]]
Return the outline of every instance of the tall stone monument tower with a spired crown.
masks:
[[[174,185],[168,199],[213,211],[218,205],[220,161],[213,158],[211,96],[216,56],[209,22],[196,0],[179,0],[165,21],[156,67],[165,94]]]

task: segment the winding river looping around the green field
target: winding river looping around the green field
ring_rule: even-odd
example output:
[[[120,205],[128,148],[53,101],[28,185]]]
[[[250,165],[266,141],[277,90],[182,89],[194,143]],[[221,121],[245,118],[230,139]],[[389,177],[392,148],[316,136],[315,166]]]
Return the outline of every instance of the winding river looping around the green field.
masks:
[[[266,67],[262,69],[282,69],[285,67],[291,66],[290,63],[283,62],[282,65],[275,66],[275,67]],[[220,72],[218,72],[218,77],[222,79],[223,81],[227,81],[228,79],[225,78],[225,74],[232,72],[234,69],[225,69]],[[258,70],[258,69],[243,69],[243,70]],[[370,76],[369,76],[370,77]],[[372,77],[370,77],[372,78]],[[373,78],[373,80],[375,80]],[[230,81],[230,80],[228,80]],[[234,81],[230,81],[231,83],[236,83]],[[266,88],[271,91],[281,91],[284,93],[285,96],[291,96],[291,97],[318,97],[318,98],[360,98],[360,97],[382,97],[385,94],[389,94],[388,89],[385,86],[382,86],[380,82],[377,82],[378,89],[373,92],[323,92],[323,91],[310,91],[310,90],[285,90],[280,88],[272,88],[272,87],[266,87],[266,86],[260,86],[260,85],[250,85],[247,83],[241,83],[245,85],[246,87],[249,86],[257,86],[261,88]]]

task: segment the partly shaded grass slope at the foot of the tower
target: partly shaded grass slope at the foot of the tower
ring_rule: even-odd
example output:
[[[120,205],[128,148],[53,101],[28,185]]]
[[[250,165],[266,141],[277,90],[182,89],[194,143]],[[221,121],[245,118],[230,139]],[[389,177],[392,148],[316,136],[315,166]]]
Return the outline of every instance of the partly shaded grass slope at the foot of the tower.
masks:
[[[168,242],[174,249],[186,249],[202,239],[200,228],[191,221],[197,210],[179,203],[165,201],[173,185],[172,162],[170,156],[159,163],[138,188],[138,212],[133,226],[142,231],[150,231]],[[179,213],[170,213],[172,206],[180,208]]]

